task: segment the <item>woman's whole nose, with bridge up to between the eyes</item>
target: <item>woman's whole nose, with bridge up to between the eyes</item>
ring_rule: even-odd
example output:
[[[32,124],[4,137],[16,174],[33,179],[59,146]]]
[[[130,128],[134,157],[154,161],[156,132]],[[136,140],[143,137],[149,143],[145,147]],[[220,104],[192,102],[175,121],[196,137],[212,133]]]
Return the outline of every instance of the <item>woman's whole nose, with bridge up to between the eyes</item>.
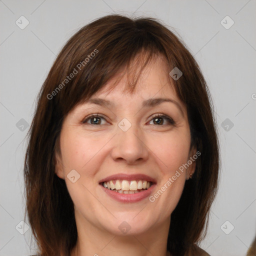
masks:
[[[143,134],[135,123],[123,118],[117,125],[116,143],[112,149],[114,159],[123,159],[132,163],[138,159],[146,159],[147,148],[143,143]]]

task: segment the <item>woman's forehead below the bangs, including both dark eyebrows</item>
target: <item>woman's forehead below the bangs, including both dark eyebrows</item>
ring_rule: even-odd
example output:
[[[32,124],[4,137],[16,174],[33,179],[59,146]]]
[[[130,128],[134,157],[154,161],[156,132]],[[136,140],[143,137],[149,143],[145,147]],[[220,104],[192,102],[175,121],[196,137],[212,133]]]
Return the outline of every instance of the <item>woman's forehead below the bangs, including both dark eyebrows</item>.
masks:
[[[136,71],[136,66],[132,65],[131,70]],[[130,86],[134,85],[132,84],[133,75],[132,72],[127,74],[127,70],[124,69],[123,72],[113,76],[99,91],[83,101],[80,106],[82,108],[102,106],[115,110],[132,111],[134,109],[138,111],[138,109],[148,109],[162,102],[170,102],[186,118],[186,105],[176,94],[164,58],[152,58],[139,72],[135,89],[130,90]]]

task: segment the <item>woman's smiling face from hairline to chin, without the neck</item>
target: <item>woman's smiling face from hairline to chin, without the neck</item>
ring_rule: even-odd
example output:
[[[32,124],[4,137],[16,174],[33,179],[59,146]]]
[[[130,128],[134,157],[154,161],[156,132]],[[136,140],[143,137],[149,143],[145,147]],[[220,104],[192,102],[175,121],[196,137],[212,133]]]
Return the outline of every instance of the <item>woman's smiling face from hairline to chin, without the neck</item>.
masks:
[[[114,77],[64,119],[56,174],[65,180],[79,226],[116,235],[168,228],[195,167],[187,164],[195,150],[189,150],[186,107],[169,71],[155,57],[134,94],[123,92],[126,75],[107,91]]]

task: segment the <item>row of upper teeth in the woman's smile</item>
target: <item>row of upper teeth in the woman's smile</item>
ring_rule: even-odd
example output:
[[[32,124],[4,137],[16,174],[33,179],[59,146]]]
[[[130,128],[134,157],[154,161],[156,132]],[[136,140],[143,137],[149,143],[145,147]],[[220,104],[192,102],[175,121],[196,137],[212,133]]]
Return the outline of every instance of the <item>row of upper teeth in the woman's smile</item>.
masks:
[[[150,181],[146,180],[109,180],[103,182],[103,186],[108,189],[116,190],[137,190],[137,189],[147,189],[150,187]]]

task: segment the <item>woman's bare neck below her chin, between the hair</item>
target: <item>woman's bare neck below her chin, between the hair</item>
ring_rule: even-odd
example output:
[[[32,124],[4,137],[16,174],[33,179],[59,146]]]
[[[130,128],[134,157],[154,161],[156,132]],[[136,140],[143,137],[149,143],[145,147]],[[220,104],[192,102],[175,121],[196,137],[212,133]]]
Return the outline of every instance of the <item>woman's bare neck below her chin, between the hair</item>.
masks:
[[[78,217],[78,216],[76,216]],[[142,233],[117,235],[92,225],[84,218],[76,218],[77,243],[71,256],[166,256],[170,219],[160,225],[151,226]]]

